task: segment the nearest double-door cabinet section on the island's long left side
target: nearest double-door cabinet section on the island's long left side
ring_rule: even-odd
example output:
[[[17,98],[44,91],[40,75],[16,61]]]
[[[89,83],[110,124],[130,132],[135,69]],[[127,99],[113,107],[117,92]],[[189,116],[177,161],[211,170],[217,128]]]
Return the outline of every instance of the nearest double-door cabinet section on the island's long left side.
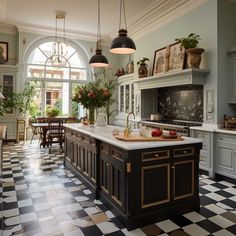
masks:
[[[100,144],[100,189],[121,210],[125,209],[125,162],[123,150]]]

